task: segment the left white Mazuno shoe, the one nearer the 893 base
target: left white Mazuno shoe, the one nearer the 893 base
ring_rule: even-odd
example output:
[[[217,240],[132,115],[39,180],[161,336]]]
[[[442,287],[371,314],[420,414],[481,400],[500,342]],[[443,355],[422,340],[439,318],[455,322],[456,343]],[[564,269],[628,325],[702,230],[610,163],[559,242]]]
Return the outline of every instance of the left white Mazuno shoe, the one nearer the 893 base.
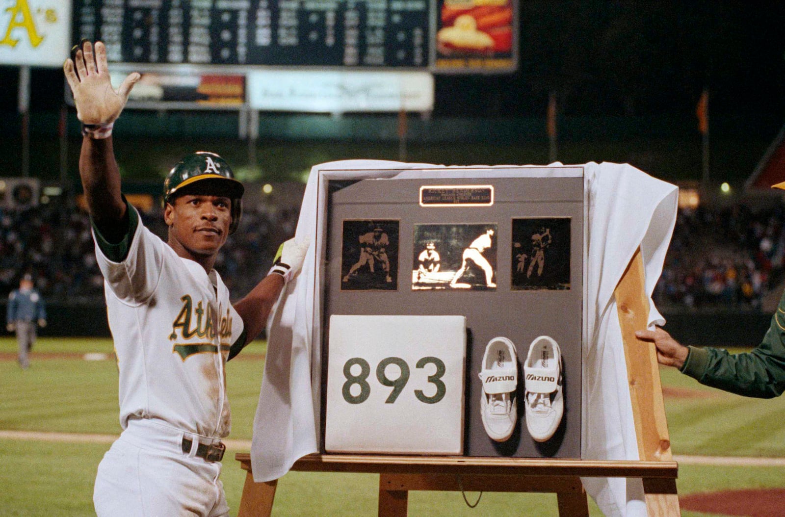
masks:
[[[518,386],[518,359],[512,341],[494,337],[487,344],[480,380],[483,381],[480,414],[485,432],[497,442],[504,442],[513,434],[518,420],[513,400]]]

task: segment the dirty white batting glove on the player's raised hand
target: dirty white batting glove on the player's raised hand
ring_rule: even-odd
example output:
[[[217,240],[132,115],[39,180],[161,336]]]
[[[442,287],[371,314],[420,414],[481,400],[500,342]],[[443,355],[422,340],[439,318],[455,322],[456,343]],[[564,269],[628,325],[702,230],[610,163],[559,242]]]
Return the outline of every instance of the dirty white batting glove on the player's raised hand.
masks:
[[[141,75],[137,72],[128,75],[115,91],[109,80],[104,43],[96,42],[94,56],[90,42],[83,40],[74,49],[72,57],[65,60],[63,70],[74,93],[76,116],[85,126],[83,133],[93,138],[106,138]]]

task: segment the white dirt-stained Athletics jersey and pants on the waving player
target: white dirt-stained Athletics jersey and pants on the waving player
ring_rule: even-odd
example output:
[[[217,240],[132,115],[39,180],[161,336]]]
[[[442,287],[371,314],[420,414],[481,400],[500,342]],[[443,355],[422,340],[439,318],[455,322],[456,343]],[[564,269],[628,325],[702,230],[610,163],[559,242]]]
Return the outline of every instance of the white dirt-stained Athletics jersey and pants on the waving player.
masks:
[[[197,515],[225,515],[221,464],[195,454],[199,444],[218,443],[229,433],[225,365],[232,345],[236,353],[245,342],[243,320],[217,271],[208,274],[178,257],[141,224],[133,206],[128,211],[119,244],[93,227],[124,429],[98,468],[96,510],[115,515],[117,508],[141,505],[140,515],[176,515],[170,511],[188,501]],[[188,454],[184,443],[192,445]],[[128,457],[136,459],[133,471]],[[144,486],[164,482],[172,490]]]

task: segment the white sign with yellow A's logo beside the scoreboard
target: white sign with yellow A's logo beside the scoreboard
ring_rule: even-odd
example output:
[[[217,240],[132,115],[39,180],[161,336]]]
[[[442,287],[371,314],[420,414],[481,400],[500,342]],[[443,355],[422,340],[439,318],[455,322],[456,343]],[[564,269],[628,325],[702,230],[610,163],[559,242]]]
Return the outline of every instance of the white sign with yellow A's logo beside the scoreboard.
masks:
[[[68,57],[71,2],[0,0],[0,63],[61,67]]]

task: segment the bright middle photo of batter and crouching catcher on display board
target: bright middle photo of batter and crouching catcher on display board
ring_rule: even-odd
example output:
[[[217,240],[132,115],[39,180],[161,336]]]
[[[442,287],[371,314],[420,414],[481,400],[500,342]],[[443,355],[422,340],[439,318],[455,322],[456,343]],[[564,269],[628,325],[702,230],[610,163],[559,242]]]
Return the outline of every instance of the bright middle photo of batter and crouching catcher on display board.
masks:
[[[496,224],[415,224],[411,288],[496,289]]]

